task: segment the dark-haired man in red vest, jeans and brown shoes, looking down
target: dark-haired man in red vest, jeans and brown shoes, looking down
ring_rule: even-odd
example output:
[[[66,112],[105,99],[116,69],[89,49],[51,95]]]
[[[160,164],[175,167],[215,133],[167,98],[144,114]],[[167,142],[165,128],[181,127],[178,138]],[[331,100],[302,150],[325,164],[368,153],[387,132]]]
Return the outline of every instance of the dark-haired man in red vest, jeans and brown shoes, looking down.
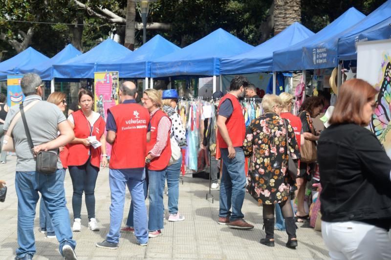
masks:
[[[237,229],[254,228],[244,221],[241,212],[246,187],[242,149],[246,127],[238,99],[244,97],[248,84],[247,78],[235,76],[230,92],[220,100],[217,108],[217,141],[223,160],[218,224]]]

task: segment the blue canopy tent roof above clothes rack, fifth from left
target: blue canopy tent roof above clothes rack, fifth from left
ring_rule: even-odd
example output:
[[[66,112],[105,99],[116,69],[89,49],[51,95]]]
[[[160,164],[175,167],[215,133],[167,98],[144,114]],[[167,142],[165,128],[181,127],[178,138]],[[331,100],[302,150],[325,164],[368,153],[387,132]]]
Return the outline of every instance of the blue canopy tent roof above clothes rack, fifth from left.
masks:
[[[220,58],[237,55],[253,48],[254,46],[219,28],[183,49],[153,61],[151,77],[220,75]]]

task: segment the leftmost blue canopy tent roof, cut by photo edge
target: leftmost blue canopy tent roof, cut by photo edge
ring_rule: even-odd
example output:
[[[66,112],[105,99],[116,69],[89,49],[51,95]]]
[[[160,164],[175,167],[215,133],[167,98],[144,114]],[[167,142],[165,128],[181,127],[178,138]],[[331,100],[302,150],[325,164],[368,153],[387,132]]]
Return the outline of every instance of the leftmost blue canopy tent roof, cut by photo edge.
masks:
[[[24,67],[42,63],[49,60],[48,57],[28,47],[14,57],[0,63],[0,81],[7,80],[7,75],[21,74]]]

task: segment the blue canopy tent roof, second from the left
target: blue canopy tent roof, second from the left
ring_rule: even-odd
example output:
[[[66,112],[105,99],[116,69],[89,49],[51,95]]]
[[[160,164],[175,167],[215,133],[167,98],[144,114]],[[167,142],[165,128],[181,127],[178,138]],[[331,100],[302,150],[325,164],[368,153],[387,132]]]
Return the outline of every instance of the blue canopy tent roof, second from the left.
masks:
[[[69,59],[72,59],[78,55],[82,54],[78,49],[73,47],[72,44],[66,45],[66,47],[53,56],[53,58],[46,60],[42,63],[32,64],[30,66],[25,66],[21,69],[22,73],[34,72],[40,75],[42,80],[51,80],[53,74],[53,64],[63,63]]]

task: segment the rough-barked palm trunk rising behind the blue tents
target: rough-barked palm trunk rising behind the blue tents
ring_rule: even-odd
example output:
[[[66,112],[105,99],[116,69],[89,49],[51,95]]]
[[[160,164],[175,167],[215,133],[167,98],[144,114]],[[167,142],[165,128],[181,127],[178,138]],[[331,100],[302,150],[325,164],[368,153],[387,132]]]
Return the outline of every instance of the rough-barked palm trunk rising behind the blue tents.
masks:
[[[274,36],[294,22],[301,22],[301,0],[274,0]]]

